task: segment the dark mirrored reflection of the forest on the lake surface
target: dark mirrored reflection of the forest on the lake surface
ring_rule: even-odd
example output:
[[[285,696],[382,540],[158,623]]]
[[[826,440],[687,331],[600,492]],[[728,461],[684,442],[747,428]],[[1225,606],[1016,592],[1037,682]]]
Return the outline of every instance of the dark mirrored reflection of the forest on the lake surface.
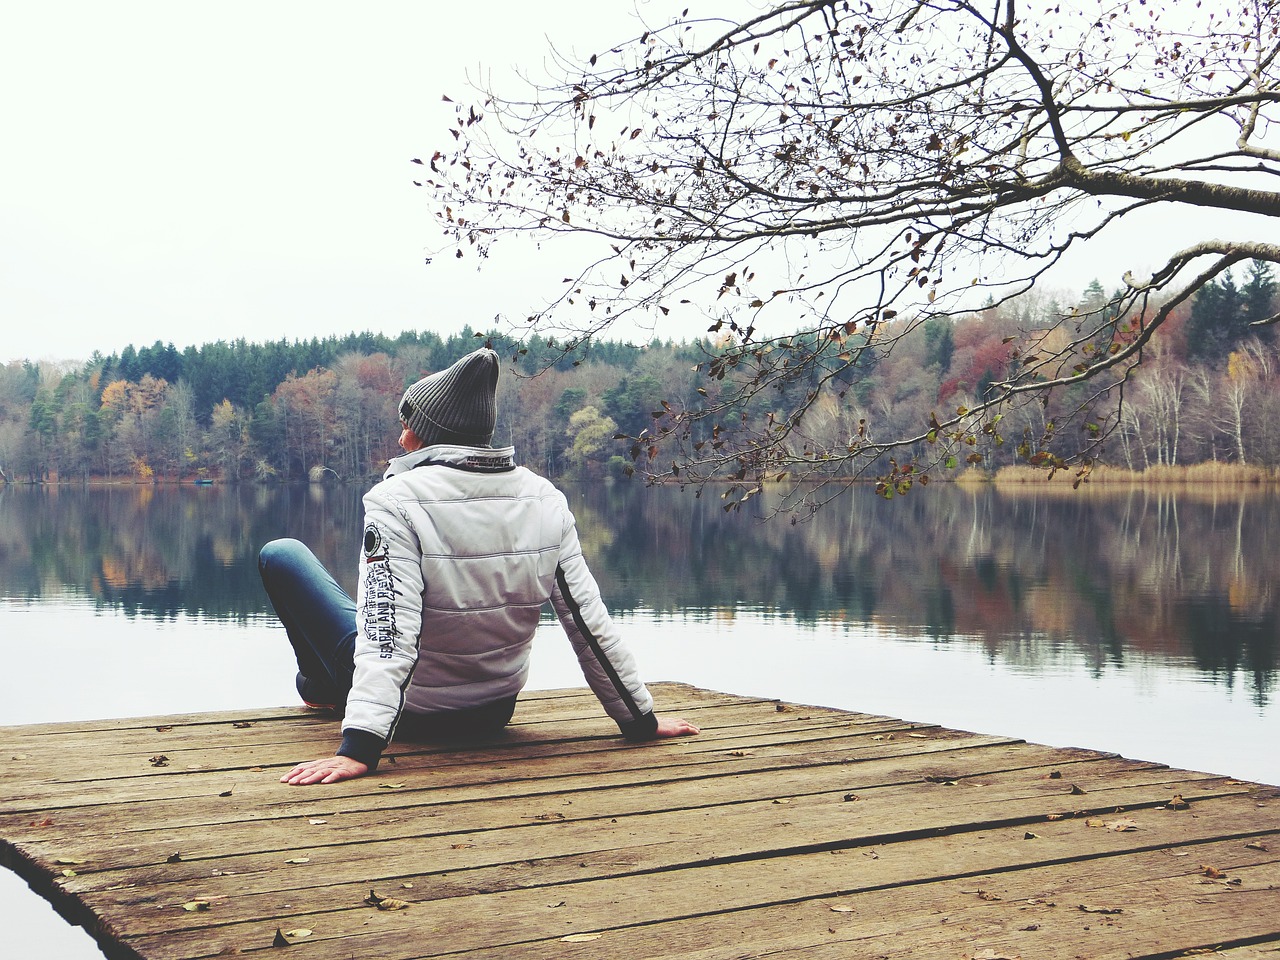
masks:
[[[9,599],[87,596],[131,616],[269,616],[256,552],[308,543],[353,589],[361,490],[347,486],[0,488]],[[1064,649],[1275,687],[1280,497],[1217,488],[1050,493],[859,489],[813,522],[724,513],[713,493],[570,489],[612,609],[689,620],[745,611],[980,644],[1036,671]],[[768,509],[769,502],[762,503]]]

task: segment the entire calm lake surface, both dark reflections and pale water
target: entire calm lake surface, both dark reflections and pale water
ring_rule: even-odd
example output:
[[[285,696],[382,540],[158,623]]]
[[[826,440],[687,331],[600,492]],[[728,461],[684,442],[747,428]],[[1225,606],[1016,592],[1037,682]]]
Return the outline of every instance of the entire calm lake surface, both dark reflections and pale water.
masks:
[[[800,525],[570,494],[650,680],[1280,783],[1276,494],[855,490]],[[344,486],[0,486],[0,724],[292,703],[256,550],[297,536],[353,589],[360,527]],[[550,622],[532,684],[581,684]],[[5,870],[0,919],[99,956]]]

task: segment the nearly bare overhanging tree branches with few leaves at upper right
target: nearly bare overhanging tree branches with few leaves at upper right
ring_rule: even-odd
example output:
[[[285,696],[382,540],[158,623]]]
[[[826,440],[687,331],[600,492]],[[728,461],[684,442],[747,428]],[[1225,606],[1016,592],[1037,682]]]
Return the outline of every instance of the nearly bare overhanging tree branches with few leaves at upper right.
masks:
[[[652,433],[685,477],[746,494],[841,465],[905,489],[957,452],[983,462],[1010,408],[1050,398],[1048,433],[1019,449],[1088,463],[1170,314],[1234,264],[1280,262],[1262,239],[1280,216],[1280,0],[1155,6],[776,0],[736,23],[685,10],[558,59],[545,82],[456,99],[419,182],[456,257],[508,236],[584,241],[581,268],[529,317],[568,347],[668,314],[728,334],[701,364],[703,399]],[[869,351],[932,323],[942,361],[937,324],[975,298],[1007,303],[1133,220],[1192,211],[1239,216],[1187,243],[1148,232],[1156,269],[1112,264],[1098,292],[1115,293],[1019,330],[972,406],[874,440],[808,435]],[[1083,433],[1061,425],[1071,415]]]

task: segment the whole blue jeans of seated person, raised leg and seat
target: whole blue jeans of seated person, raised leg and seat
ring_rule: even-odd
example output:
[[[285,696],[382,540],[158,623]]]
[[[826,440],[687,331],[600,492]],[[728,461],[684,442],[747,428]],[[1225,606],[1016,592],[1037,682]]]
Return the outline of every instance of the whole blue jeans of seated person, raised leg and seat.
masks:
[[[342,709],[351,691],[356,654],[356,602],[300,540],[271,540],[257,556],[262,586],[298,659],[305,703]],[[406,713],[401,728],[420,737],[467,737],[502,730],[516,698],[445,713]]]

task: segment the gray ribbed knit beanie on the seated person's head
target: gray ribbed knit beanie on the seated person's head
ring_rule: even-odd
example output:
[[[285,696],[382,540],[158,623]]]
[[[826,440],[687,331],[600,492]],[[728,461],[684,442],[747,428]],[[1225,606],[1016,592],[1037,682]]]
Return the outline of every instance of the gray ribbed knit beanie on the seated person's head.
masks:
[[[428,447],[488,447],[498,415],[497,390],[498,355],[481,347],[404,390],[401,420]]]

